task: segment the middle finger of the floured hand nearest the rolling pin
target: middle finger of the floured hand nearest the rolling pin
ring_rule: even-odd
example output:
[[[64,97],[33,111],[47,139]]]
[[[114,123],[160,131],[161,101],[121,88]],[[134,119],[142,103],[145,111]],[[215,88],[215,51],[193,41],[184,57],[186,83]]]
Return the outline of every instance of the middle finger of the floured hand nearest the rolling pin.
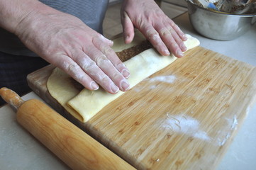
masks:
[[[121,89],[121,91],[127,91],[130,88],[130,85],[128,84],[126,78],[123,77],[120,72],[118,72],[116,67],[113,66],[113,64],[110,60],[108,60],[106,55],[104,55],[96,47],[90,47],[90,50],[87,51],[87,55],[89,55],[91,60],[94,60],[94,62],[96,63],[96,66],[98,66],[104,72],[104,74],[106,74],[106,76],[109,77],[111,81],[113,81],[114,84],[111,84],[111,86],[116,84],[116,86]],[[103,84],[103,86],[106,85]]]

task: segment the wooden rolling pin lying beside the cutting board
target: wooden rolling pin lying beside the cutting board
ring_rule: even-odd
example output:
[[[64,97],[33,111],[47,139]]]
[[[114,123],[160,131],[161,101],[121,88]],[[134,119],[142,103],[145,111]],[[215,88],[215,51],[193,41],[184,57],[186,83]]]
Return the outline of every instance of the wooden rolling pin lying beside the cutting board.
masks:
[[[7,88],[0,96],[17,109],[17,120],[26,130],[72,169],[134,169],[45,103],[23,101]]]

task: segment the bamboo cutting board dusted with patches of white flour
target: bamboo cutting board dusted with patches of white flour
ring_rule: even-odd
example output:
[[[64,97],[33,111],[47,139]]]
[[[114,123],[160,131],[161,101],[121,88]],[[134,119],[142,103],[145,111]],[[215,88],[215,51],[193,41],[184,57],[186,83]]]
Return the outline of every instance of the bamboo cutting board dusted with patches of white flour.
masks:
[[[52,69],[33,91],[137,169],[215,169],[256,96],[255,67],[196,47],[79,123],[48,93]]]

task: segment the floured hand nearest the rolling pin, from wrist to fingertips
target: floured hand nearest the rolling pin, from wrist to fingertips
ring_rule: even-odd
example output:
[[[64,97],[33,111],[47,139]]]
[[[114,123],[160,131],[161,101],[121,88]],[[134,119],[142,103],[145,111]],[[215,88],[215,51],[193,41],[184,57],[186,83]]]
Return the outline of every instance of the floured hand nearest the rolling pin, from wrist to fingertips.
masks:
[[[99,85],[111,94],[129,89],[128,69],[111,49],[113,42],[79,18],[52,8],[35,11],[18,24],[16,35],[30,50],[89,90]]]

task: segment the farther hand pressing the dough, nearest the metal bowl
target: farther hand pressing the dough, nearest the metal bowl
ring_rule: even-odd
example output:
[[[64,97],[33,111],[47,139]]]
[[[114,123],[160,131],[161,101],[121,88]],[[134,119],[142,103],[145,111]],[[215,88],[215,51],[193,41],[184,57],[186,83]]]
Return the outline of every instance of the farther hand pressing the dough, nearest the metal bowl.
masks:
[[[186,35],[153,0],[124,0],[121,8],[123,35],[126,43],[134,38],[134,26],[138,28],[161,55],[172,52],[182,57],[187,50]]]

